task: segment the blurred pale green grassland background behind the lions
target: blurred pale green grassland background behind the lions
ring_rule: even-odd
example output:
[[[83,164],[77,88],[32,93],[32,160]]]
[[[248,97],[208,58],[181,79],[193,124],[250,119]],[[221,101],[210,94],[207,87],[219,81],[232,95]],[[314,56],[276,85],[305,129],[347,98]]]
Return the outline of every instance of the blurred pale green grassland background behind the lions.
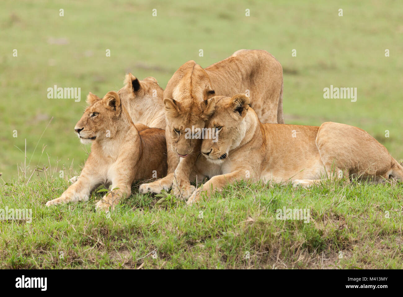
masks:
[[[165,88],[186,61],[207,67],[241,48],[264,49],[282,63],[286,123],[359,126],[401,159],[402,35],[401,1],[2,0],[2,178],[17,176],[25,139],[27,171],[48,164],[46,154],[52,166],[79,169],[86,152],[73,128],[89,91],[102,97],[118,90],[127,72],[154,76]],[[55,84],[80,87],[81,101],[48,99],[47,88]],[[323,88],[331,84],[356,87],[357,102],[324,99]]]

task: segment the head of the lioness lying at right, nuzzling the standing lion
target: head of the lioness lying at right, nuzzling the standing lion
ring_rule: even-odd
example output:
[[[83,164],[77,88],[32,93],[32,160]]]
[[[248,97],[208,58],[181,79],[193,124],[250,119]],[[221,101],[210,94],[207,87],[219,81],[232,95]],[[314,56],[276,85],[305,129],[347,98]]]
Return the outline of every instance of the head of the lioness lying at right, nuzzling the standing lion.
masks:
[[[206,122],[206,128],[214,130],[212,139],[203,139],[202,154],[208,161],[222,164],[231,150],[245,138],[245,116],[250,100],[245,94],[233,97],[216,96],[214,114]]]

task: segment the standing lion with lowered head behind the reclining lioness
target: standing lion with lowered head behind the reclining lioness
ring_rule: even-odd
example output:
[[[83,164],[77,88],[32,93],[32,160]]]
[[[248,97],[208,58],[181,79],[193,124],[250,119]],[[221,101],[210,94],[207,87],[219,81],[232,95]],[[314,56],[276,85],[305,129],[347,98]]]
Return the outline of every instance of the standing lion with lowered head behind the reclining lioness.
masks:
[[[195,190],[189,174],[200,152],[201,139],[186,137],[187,129],[202,129],[214,112],[215,95],[247,92],[262,122],[284,123],[283,68],[268,52],[240,50],[203,69],[188,61],[174,73],[164,91],[168,175],[140,186],[140,192],[160,193],[171,186],[187,199]]]

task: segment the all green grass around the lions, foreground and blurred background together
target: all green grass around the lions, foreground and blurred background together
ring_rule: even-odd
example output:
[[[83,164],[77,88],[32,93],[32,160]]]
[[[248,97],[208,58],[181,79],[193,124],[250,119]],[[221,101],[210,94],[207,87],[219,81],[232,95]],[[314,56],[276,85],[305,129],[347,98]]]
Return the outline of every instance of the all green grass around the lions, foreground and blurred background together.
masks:
[[[134,188],[110,218],[94,212],[100,194],[44,206],[86,159],[89,147],[73,128],[89,91],[118,90],[129,71],[164,88],[186,61],[206,67],[241,48],[265,49],[282,63],[286,123],[359,126],[403,158],[399,1],[3,0],[0,11],[0,201],[33,211],[31,224],[0,221],[0,268],[402,268],[395,183],[310,190],[240,183],[199,206],[168,209]],[[54,84],[80,87],[81,102],[48,99]],[[357,87],[357,102],[323,99],[330,84]],[[44,166],[46,176],[35,171]],[[283,206],[309,207],[311,222],[276,220]]]

